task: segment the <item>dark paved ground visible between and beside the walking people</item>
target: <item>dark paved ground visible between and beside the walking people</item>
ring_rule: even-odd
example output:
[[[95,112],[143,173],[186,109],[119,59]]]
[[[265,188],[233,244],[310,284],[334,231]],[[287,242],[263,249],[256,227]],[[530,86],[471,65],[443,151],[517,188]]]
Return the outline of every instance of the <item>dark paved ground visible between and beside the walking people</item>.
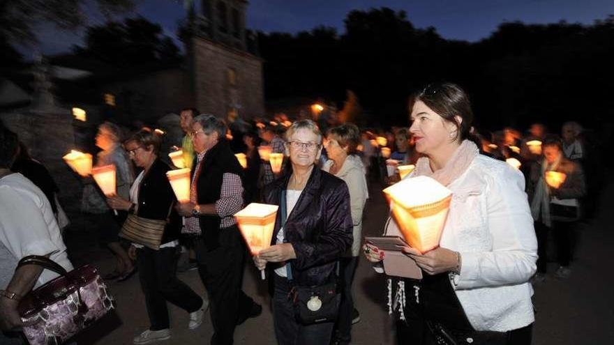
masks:
[[[366,206],[364,235],[381,233],[387,206],[379,185],[371,187],[371,199]],[[614,183],[605,188],[604,196],[612,195]],[[601,212],[590,222],[578,226],[576,259],[568,280],[560,281],[551,274],[544,284],[535,286],[534,305],[537,321],[534,327],[535,345],[546,344],[613,344],[614,339],[614,274],[611,259],[614,248],[613,201],[601,203]],[[87,218],[73,217],[73,227],[66,234],[73,263],[93,263],[100,271],[112,269],[112,256],[96,245],[95,224]],[[551,263],[550,272],[555,270]],[[196,271],[180,273],[179,278],[203,294],[204,289]],[[354,326],[352,344],[394,344],[394,330],[387,315],[384,279],[361,260],[354,281],[355,300],[361,312],[361,322]],[[84,344],[131,344],[132,338],[149,326],[144,298],[137,277],[123,283],[110,283],[117,299],[117,313],[107,316],[80,339]],[[250,319],[235,332],[235,344],[275,344],[266,282],[251,265],[245,270],[245,291],[264,306],[257,319]],[[209,344],[211,323],[209,316],[197,330],[187,328],[188,316],[171,306],[173,337],[159,344]]]

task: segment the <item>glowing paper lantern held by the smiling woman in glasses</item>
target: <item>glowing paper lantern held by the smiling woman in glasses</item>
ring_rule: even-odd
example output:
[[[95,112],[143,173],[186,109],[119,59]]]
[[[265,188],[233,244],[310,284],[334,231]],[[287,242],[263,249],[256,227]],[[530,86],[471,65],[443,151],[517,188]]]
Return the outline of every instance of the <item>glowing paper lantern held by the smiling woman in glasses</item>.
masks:
[[[271,246],[278,206],[252,203],[234,214],[252,255]],[[264,279],[264,270],[261,271]]]

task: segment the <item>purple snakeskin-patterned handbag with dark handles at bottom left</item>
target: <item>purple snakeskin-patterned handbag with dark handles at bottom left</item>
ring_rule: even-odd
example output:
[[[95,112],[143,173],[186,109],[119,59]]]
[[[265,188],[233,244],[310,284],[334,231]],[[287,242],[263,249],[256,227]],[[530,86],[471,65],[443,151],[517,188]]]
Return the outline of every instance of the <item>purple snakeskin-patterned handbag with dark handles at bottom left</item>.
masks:
[[[18,311],[27,324],[23,332],[31,345],[59,345],[81,332],[111,309],[114,300],[93,266],[66,270],[45,256],[25,256],[17,264],[42,266],[60,276],[30,291]]]

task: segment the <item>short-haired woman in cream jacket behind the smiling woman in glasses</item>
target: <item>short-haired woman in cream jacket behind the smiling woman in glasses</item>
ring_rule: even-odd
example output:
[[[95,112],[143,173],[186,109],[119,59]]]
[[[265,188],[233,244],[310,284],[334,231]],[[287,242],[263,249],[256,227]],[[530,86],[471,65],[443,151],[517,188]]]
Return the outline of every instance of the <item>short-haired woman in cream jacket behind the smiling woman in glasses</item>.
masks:
[[[352,323],[360,316],[354,309],[352,281],[358,265],[362,238],[362,212],[369,197],[365,168],[361,158],[356,155],[360,132],[356,125],[346,123],[331,128],[327,133],[326,149],[329,160],[322,169],[345,181],[350,190],[350,208],[354,223],[354,242],[340,261],[340,275],[343,277],[343,294],[332,344],[350,344]]]

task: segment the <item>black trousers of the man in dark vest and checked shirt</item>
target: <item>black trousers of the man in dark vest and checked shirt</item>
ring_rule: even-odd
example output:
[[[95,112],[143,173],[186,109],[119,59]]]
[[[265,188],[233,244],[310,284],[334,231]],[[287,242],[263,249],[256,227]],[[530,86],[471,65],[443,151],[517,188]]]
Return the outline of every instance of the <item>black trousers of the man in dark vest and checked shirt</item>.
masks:
[[[195,241],[198,273],[209,293],[211,344],[232,344],[237,320],[249,315],[254,301],[241,290],[246,249],[237,226],[220,230],[219,247],[208,250],[202,238]]]

